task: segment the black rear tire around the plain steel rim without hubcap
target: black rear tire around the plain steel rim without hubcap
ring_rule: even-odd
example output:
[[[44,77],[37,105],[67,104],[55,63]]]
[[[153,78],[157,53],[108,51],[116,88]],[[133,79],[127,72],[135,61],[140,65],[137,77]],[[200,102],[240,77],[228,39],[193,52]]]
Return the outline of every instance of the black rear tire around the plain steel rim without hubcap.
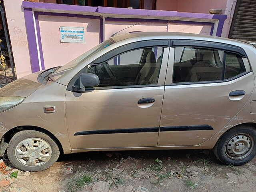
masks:
[[[253,146],[251,146],[252,149],[249,150],[250,154],[248,154],[248,156],[245,156],[244,158],[241,159],[232,159],[226,154],[226,144],[232,137],[238,134],[246,134],[250,136],[250,138],[253,140]],[[239,166],[248,163],[256,155],[256,129],[253,126],[241,125],[228,130],[220,137],[220,139],[214,146],[213,151],[216,158],[224,164],[232,164],[234,166]]]

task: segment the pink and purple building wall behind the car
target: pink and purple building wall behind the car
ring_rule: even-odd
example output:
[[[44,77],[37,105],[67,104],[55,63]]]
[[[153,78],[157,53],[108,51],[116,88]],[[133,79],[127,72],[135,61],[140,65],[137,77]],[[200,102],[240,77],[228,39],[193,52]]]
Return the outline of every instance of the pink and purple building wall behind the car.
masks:
[[[236,0],[39,1],[4,1],[18,78],[62,66],[116,33],[167,31],[228,37],[236,9]],[[221,9],[222,14],[210,14],[209,9]],[[60,27],[83,28],[84,41],[62,42]]]

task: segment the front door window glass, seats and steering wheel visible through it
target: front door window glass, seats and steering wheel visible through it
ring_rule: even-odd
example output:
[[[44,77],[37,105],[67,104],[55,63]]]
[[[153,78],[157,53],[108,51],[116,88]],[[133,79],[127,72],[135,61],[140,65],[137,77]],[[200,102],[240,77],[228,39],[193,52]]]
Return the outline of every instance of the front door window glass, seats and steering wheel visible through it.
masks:
[[[88,73],[99,77],[99,87],[156,85],[162,54],[162,47],[132,50],[102,64],[91,65]]]

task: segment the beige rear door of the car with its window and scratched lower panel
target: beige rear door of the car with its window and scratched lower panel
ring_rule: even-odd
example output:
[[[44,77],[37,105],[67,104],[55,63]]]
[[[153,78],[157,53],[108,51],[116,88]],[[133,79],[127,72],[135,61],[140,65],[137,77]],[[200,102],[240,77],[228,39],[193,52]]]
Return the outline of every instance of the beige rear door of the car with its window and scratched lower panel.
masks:
[[[202,144],[244,106],[254,75],[247,58],[228,51],[190,44],[170,55],[158,146]]]

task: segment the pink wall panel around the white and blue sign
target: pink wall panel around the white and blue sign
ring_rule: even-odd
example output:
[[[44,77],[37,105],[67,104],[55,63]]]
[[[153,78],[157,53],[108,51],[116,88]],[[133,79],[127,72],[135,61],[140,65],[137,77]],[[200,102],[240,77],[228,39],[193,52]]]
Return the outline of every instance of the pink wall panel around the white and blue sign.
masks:
[[[100,43],[100,20],[39,15],[44,66],[64,65]],[[85,43],[60,43],[59,27],[84,27]]]

